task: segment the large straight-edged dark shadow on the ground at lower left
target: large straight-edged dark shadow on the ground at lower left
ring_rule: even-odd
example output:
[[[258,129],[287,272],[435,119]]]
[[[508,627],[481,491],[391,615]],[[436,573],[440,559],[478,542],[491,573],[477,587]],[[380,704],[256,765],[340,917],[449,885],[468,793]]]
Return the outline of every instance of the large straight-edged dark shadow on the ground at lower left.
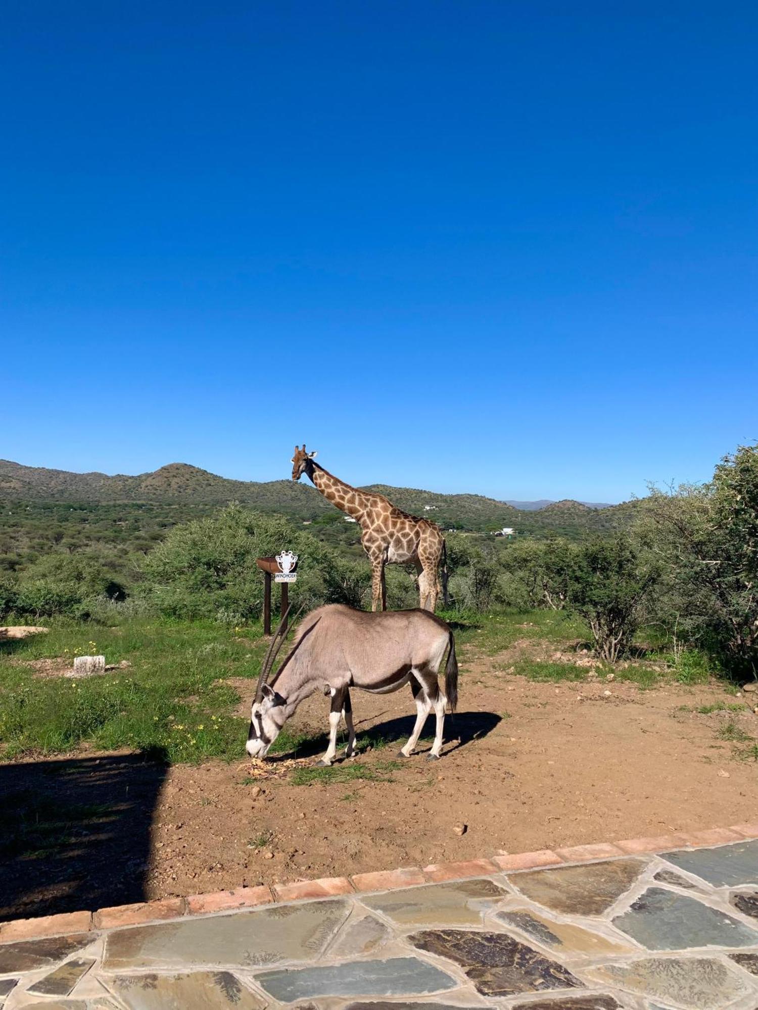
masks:
[[[0,765],[0,921],[145,900],[164,755]]]

